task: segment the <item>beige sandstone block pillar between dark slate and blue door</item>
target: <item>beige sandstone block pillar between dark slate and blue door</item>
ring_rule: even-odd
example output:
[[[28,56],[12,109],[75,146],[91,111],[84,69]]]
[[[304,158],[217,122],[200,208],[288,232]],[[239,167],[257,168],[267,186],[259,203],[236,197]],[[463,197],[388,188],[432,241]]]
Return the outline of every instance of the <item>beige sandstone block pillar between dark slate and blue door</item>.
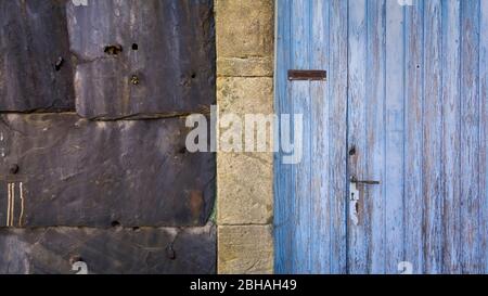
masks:
[[[220,113],[273,113],[273,0],[216,0]],[[219,273],[272,273],[272,153],[217,154]]]

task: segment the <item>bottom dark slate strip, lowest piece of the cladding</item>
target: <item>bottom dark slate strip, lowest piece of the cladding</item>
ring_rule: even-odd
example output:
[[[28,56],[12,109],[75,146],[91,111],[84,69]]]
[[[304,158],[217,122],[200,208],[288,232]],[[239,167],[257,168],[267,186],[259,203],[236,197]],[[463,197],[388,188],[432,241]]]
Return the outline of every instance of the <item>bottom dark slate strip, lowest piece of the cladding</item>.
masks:
[[[214,273],[213,227],[1,229],[0,273]]]

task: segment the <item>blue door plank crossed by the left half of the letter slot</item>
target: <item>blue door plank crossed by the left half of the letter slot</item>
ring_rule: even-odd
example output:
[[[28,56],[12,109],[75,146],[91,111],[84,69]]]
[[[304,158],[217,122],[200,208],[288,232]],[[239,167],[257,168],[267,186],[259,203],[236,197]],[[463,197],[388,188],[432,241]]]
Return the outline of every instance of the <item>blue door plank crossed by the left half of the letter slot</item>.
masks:
[[[310,1],[293,0],[292,11],[292,65],[295,69],[310,67]],[[295,272],[310,272],[310,82],[293,81],[293,112],[303,114],[303,157],[295,167]]]

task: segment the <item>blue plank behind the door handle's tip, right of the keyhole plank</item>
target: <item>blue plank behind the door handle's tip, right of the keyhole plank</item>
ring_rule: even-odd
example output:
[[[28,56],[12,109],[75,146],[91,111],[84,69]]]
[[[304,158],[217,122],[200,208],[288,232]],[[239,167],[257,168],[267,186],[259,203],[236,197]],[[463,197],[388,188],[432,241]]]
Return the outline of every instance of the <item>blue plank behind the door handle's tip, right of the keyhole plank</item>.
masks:
[[[362,185],[364,217],[370,222],[364,224],[368,236],[369,273],[385,272],[385,1],[369,0],[367,2],[367,61],[365,95],[363,100],[365,146],[359,149],[364,155],[364,170],[358,172],[362,180],[380,180],[380,185]],[[354,50],[352,48],[350,50]],[[397,49],[398,50],[398,49]],[[351,118],[354,120],[354,118]],[[360,126],[360,124],[358,124]],[[396,164],[390,164],[396,165]],[[367,219],[364,219],[367,221]],[[367,258],[364,258],[367,259]]]

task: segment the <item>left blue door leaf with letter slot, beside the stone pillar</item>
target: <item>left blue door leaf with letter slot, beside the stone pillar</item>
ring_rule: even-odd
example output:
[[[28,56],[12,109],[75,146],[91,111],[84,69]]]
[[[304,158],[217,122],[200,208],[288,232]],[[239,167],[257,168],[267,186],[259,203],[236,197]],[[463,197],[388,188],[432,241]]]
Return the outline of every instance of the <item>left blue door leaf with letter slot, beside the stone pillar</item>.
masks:
[[[305,137],[299,165],[274,162],[275,272],[345,273],[347,3],[286,0],[277,21],[275,108],[304,114]],[[308,68],[329,68],[330,83],[287,81],[288,69]]]

